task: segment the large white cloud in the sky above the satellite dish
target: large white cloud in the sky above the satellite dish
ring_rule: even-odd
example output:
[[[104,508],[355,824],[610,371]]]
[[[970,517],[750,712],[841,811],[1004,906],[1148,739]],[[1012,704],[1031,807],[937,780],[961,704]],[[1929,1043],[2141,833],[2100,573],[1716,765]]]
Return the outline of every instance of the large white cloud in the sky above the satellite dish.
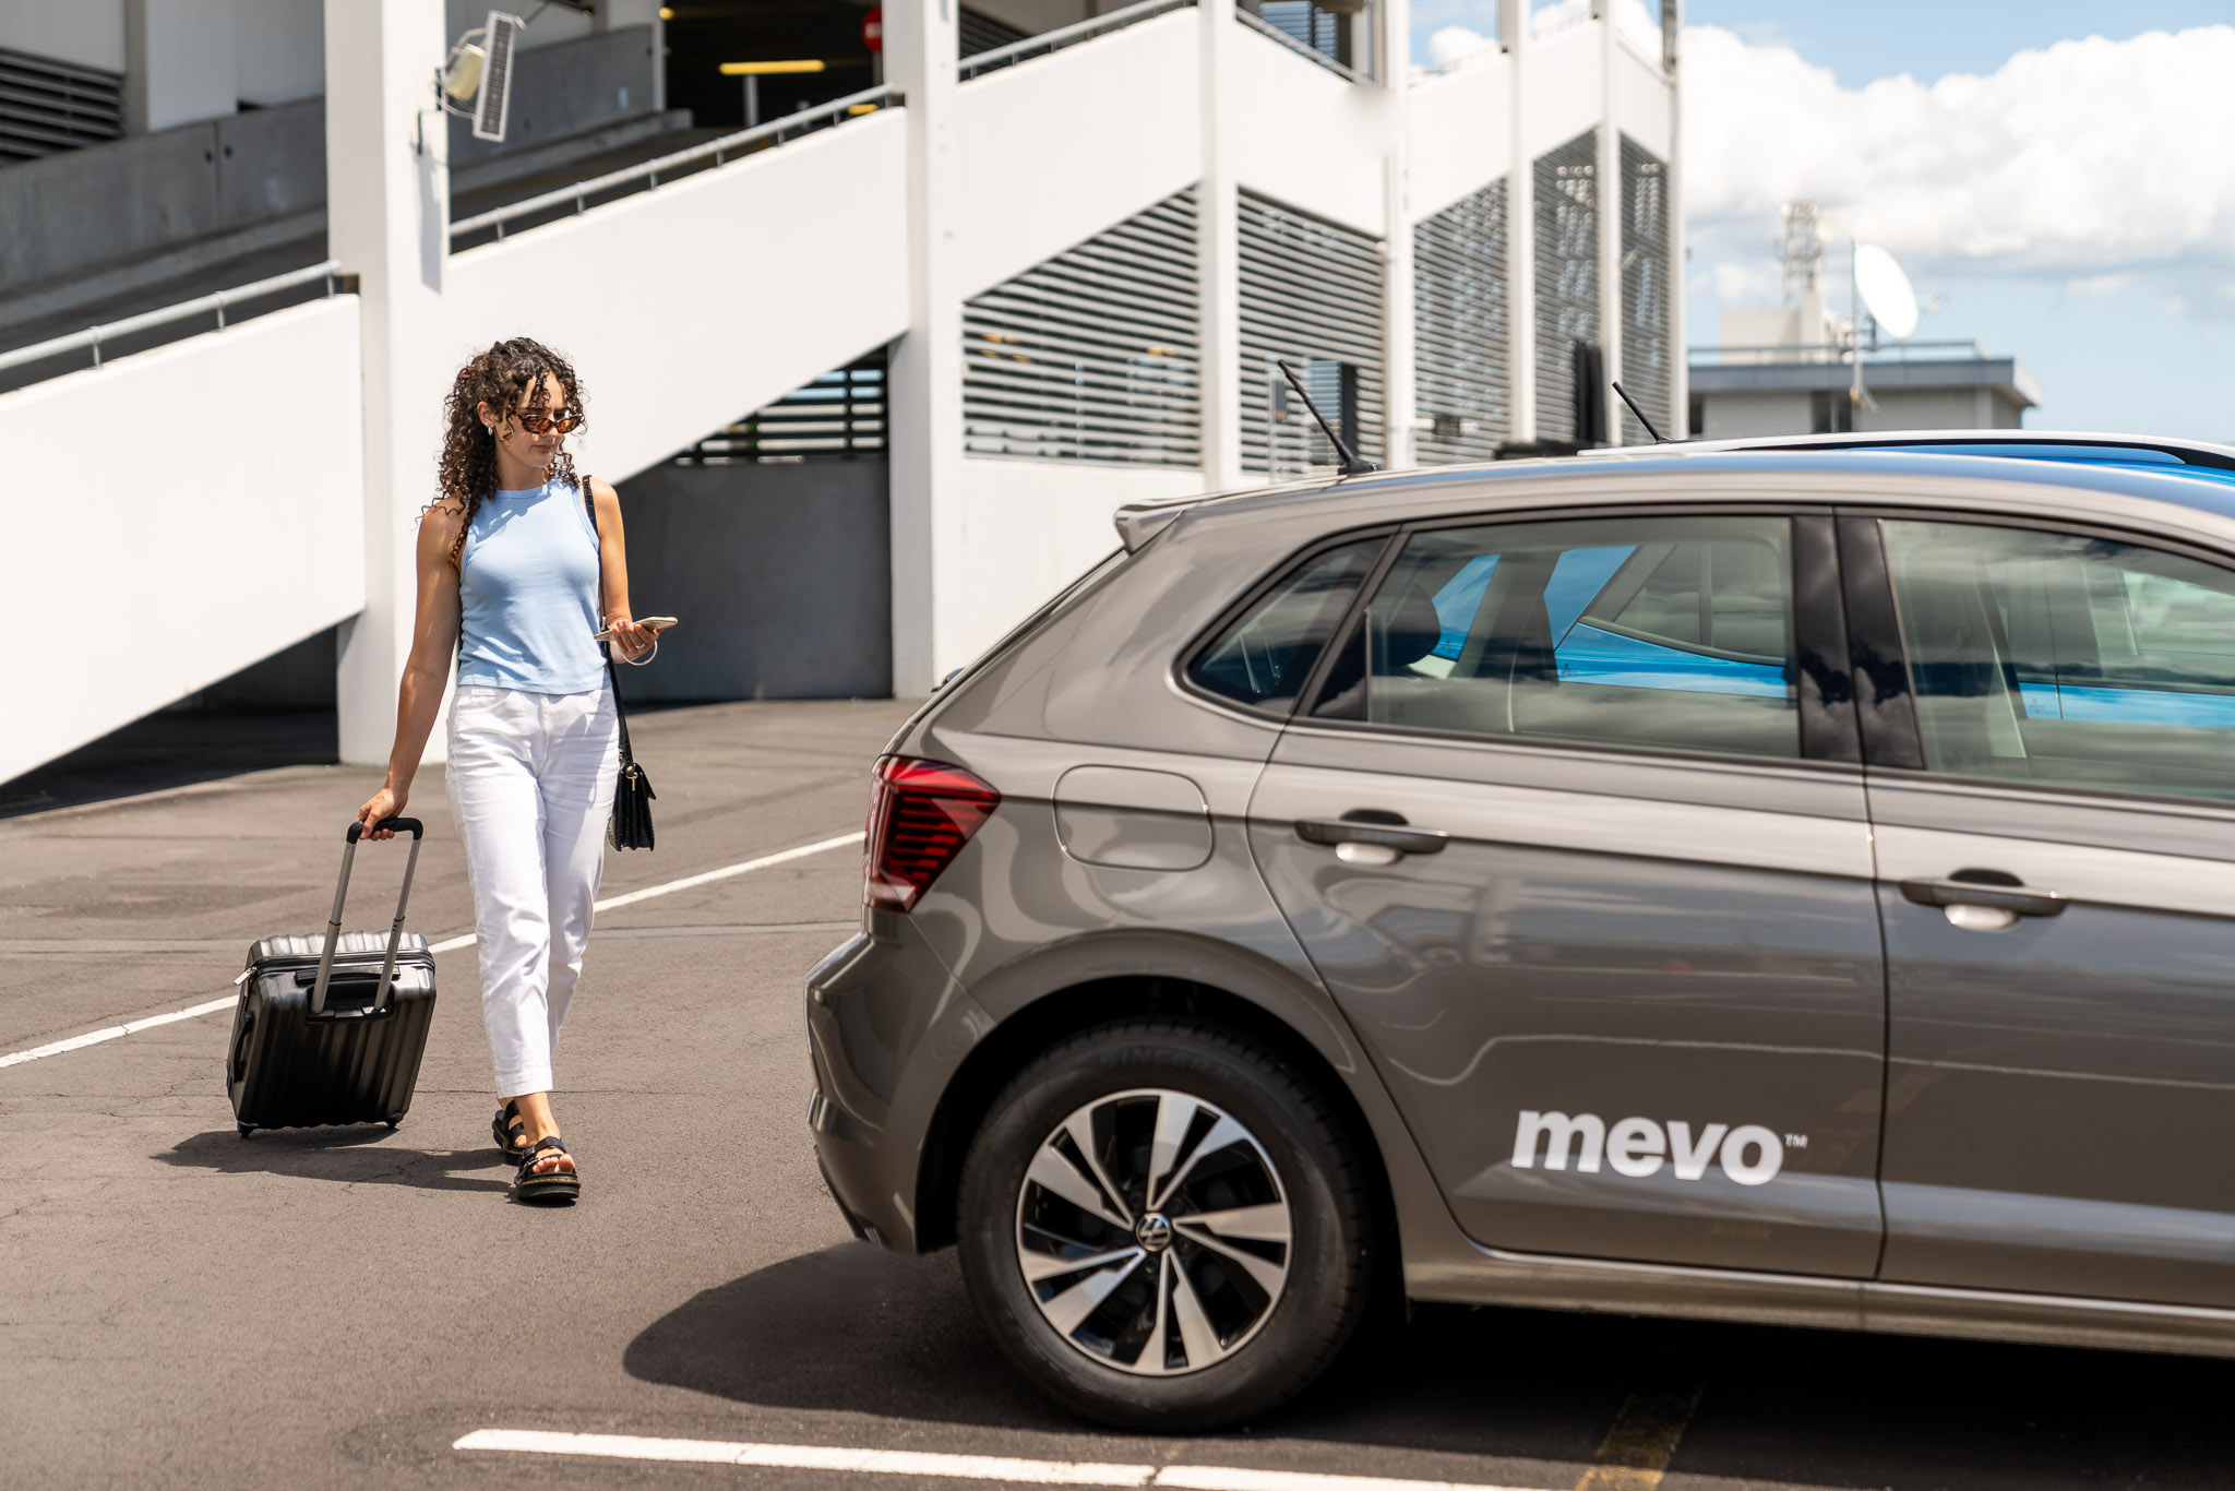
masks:
[[[2231,25],[1860,89],[1721,27],[1687,27],[1683,45],[1685,210],[1703,259],[1766,262],[1779,203],[1806,197],[1922,273],[2047,273],[2110,293],[2114,275],[2235,266]]]

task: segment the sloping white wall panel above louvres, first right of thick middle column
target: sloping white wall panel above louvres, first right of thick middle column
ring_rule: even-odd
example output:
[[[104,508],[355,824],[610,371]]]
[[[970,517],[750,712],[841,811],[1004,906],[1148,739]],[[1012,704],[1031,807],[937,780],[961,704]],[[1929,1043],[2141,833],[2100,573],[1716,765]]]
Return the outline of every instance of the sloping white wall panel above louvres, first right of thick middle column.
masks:
[[[961,85],[966,297],[1202,174],[1198,31],[1191,11],[1171,11]]]

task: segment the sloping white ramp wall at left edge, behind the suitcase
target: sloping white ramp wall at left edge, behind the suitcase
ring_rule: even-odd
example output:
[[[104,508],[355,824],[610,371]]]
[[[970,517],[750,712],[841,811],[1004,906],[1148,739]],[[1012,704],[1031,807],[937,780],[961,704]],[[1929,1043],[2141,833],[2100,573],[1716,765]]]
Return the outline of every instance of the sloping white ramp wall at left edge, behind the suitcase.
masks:
[[[9,606],[72,617],[13,648],[0,780],[364,604],[358,389],[342,295],[0,393]]]

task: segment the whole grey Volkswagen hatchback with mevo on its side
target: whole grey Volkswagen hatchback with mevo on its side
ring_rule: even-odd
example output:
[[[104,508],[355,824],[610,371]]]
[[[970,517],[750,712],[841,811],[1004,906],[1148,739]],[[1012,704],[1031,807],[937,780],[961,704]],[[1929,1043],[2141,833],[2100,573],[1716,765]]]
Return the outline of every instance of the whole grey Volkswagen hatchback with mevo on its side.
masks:
[[[874,769],[849,1223],[1129,1426],[1377,1297],[2235,1355],[2235,452],[2038,440],[1120,512]]]

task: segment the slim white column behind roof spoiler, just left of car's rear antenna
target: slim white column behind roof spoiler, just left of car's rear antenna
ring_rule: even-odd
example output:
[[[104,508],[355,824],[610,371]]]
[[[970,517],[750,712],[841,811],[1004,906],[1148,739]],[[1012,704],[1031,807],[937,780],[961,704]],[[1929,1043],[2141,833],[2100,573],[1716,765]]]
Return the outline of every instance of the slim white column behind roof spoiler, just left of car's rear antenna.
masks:
[[[1227,56],[1240,40],[1234,0],[1200,0],[1202,25],[1202,179],[1198,210],[1198,315],[1202,342],[1202,485],[1243,485],[1243,232],[1234,183],[1229,103],[1220,87]]]

